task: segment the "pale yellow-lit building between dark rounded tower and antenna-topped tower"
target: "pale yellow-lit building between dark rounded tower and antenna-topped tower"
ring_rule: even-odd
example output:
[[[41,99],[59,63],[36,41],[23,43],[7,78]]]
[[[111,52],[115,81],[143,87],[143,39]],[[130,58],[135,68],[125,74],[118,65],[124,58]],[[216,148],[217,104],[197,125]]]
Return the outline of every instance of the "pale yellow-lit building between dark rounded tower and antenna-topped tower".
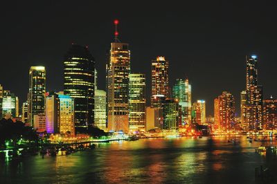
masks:
[[[106,91],[96,89],[94,99],[94,126],[98,127],[99,129],[105,130],[107,127]]]

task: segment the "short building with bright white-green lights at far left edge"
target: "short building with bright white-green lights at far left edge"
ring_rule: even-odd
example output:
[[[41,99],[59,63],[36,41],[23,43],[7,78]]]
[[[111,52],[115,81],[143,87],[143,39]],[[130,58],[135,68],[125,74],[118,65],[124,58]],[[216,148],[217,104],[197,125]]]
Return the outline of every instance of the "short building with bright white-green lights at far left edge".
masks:
[[[6,91],[3,93],[2,98],[2,115],[5,116],[6,113],[10,113],[10,115],[15,118],[19,117],[19,100],[18,97],[15,96],[14,93],[10,93],[10,91]]]

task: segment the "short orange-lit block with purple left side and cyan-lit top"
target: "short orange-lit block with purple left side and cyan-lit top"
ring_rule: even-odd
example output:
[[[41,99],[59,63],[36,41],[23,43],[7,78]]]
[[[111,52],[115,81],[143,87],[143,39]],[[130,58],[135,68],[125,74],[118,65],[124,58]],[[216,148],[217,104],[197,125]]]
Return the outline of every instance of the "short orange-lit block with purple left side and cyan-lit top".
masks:
[[[48,134],[75,134],[74,99],[53,93],[46,97],[46,131]]]

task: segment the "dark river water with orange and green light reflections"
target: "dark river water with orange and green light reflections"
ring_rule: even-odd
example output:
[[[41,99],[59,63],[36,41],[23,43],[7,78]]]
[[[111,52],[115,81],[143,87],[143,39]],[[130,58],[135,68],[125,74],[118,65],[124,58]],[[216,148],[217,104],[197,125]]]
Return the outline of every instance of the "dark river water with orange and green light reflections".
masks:
[[[258,146],[246,136],[111,142],[1,163],[0,176],[1,183],[254,183],[254,168],[275,159],[256,154]]]

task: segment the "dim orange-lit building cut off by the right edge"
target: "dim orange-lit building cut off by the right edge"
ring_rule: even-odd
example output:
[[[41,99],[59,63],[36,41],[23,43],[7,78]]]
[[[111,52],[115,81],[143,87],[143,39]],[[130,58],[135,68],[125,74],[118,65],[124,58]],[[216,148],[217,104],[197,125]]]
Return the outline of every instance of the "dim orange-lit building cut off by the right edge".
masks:
[[[267,130],[277,129],[277,99],[272,96],[263,100],[263,123]]]

